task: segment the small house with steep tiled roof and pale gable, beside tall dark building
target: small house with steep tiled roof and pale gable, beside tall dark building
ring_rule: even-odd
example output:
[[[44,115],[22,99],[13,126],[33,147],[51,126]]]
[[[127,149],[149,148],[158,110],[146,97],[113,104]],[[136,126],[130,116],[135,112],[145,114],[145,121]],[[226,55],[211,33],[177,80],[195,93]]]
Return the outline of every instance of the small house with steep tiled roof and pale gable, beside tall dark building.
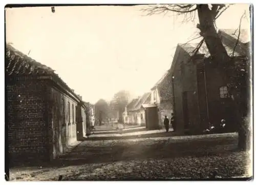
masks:
[[[166,71],[151,89],[151,104],[158,107],[159,125],[163,126],[164,117],[170,119],[173,113],[172,75]]]

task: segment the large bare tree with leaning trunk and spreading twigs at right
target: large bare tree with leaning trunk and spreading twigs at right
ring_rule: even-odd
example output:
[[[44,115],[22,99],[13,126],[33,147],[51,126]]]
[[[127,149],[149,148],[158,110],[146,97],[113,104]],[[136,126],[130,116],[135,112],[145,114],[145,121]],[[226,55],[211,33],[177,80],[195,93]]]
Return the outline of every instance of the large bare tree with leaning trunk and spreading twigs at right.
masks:
[[[212,61],[214,61],[214,67],[218,67],[220,69],[221,75],[226,80],[226,84],[229,84],[229,93],[233,95],[234,102],[236,104],[237,111],[237,121],[239,124],[239,144],[238,147],[240,149],[247,149],[250,146],[250,138],[248,126],[245,126],[244,110],[248,110],[248,103],[243,104],[243,108],[241,108],[241,93],[242,93],[242,82],[240,79],[241,76],[233,76],[234,75],[234,65],[233,57],[229,57],[227,51],[221,41],[221,38],[218,36],[216,20],[222,15],[222,13],[229,8],[230,5],[225,4],[173,4],[173,5],[150,5],[144,9],[143,12],[146,12],[146,15],[154,15],[154,14],[167,14],[168,12],[175,12],[176,15],[183,15],[183,22],[195,20],[196,13],[198,15],[199,23],[197,24],[197,28],[200,31],[200,36],[202,40],[199,42],[197,47],[193,50],[193,54],[197,54],[199,48],[202,43],[205,42]],[[245,15],[243,15],[245,16]],[[241,17],[242,19],[242,17]],[[241,21],[239,25],[239,35],[240,35]],[[198,37],[200,38],[200,37]],[[239,38],[238,38],[239,39]],[[238,43],[238,41],[237,41]],[[237,45],[237,44],[236,44]],[[235,46],[236,47],[236,46]],[[234,48],[235,49],[235,48]],[[250,59],[244,61],[245,64],[248,64]],[[248,73],[249,68],[244,67]],[[241,74],[241,73],[240,73]],[[240,75],[239,74],[239,75]],[[245,75],[245,74],[241,74]],[[240,80],[239,80],[240,79]],[[245,79],[245,78],[243,78]],[[247,82],[249,78],[247,75]],[[244,87],[244,86],[243,86]],[[248,88],[248,86],[247,86]],[[248,94],[247,94],[248,95]],[[248,113],[248,111],[247,111]]]

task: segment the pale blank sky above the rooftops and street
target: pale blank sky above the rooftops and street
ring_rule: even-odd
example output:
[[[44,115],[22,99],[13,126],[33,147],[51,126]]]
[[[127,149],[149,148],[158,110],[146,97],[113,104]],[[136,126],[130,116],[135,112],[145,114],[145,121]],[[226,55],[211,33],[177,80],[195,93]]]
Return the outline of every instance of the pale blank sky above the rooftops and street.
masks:
[[[142,16],[144,6],[11,8],[6,39],[36,61],[53,68],[70,88],[95,103],[121,89],[142,95],[172,64],[175,47],[193,38],[195,22],[172,14]],[[237,29],[248,5],[230,7],[219,29]],[[248,14],[247,14],[248,16]],[[248,20],[242,27],[248,28]]]

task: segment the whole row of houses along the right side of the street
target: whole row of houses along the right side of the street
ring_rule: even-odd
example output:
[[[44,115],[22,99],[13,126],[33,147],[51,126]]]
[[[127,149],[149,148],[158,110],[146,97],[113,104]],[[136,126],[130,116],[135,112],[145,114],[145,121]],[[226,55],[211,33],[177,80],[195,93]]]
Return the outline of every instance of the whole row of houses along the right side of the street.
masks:
[[[248,69],[246,65],[240,64],[248,61],[250,56],[249,32],[241,30],[239,39],[236,30],[219,30],[218,34],[228,55],[234,59],[235,66],[244,66],[231,69],[233,74],[246,78]],[[209,122],[216,125],[221,119],[225,119],[227,126],[231,129],[235,128],[232,125],[235,122],[235,106],[232,95],[228,94],[229,85],[226,84],[220,69],[214,66],[215,61],[210,57],[205,43],[194,55],[193,51],[197,45],[188,43],[177,45],[170,69],[151,89],[151,92],[127,104],[123,113],[125,123],[144,124],[145,107],[155,105],[158,112],[156,124],[163,125],[164,116],[170,118],[174,113],[177,132],[181,135],[186,131],[197,134]],[[244,103],[248,99],[246,85],[244,83],[244,93],[241,95]],[[141,107],[142,104],[147,105]]]

